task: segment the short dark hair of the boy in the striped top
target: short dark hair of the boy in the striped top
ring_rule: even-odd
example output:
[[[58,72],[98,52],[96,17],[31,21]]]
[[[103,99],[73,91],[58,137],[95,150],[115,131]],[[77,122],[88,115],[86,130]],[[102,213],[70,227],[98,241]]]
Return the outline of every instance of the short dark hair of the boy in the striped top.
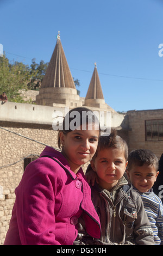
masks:
[[[143,166],[143,164],[147,164],[148,166],[154,166],[156,172],[159,168],[158,157],[149,149],[136,149],[131,151],[128,156],[128,166],[127,169],[130,169],[133,166]]]

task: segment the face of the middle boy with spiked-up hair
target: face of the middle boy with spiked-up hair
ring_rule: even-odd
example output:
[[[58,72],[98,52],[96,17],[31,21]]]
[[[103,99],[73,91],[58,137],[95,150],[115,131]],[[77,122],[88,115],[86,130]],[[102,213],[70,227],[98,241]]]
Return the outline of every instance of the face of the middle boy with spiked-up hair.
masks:
[[[97,173],[99,185],[111,191],[126,170],[127,161],[123,149],[108,148],[99,150],[92,169]]]

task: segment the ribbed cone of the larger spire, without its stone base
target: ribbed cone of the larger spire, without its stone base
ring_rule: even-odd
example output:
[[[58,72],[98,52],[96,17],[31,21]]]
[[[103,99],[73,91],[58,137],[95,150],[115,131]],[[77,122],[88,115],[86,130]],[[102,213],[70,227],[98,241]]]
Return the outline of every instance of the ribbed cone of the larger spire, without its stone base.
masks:
[[[57,44],[55,45],[45,77],[43,78],[41,84],[41,88],[47,87],[65,87],[76,89],[66,60],[64,49],[61,45],[60,32],[57,35]]]

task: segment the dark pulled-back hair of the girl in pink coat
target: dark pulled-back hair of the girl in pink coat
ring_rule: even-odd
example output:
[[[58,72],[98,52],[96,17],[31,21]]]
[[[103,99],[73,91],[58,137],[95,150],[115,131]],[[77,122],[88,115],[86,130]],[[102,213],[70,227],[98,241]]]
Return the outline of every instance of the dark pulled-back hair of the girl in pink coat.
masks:
[[[74,125],[71,125],[74,124]],[[81,125],[95,125],[95,130],[100,129],[99,121],[96,115],[91,111],[91,109],[86,107],[77,107],[71,109],[64,117],[63,123],[62,123],[62,130],[59,130],[58,133],[58,147],[61,148],[61,142],[60,142],[60,132],[63,132],[65,135],[68,132],[76,130],[77,124]],[[86,127],[85,129],[86,130]]]

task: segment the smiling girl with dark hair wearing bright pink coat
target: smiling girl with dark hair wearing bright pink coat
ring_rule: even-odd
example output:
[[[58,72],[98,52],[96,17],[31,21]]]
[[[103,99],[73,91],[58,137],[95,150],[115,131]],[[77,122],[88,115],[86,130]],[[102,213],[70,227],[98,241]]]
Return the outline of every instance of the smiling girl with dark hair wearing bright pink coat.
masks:
[[[64,128],[58,135],[61,152],[46,147],[39,159],[28,164],[15,190],[4,245],[73,245],[82,214],[87,233],[96,238],[101,236],[99,218],[81,167],[95,154],[99,129],[95,128],[95,115],[90,109],[72,109],[69,117],[72,111],[80,113],[80,126],[72,129],[73,116],[67,129],[68,119],[64,119]],[[87,113],[86,119],[83,113]],[[89,118],[93,120],[91,130]],[[82,130],[83,120],[86,129]]]

